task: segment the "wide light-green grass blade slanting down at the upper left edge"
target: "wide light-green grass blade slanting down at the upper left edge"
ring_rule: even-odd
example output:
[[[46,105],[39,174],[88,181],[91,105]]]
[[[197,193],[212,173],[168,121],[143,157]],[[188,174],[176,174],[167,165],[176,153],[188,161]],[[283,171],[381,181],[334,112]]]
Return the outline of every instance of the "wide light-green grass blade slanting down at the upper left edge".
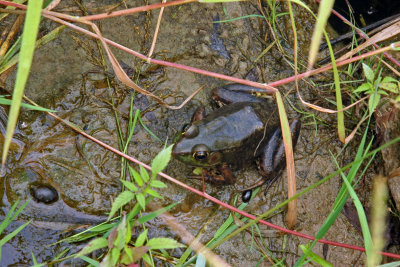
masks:
[[[22,33],[21,53],[19,57],[19,65],[17,70],[17,78],[13,92],[12,105],[7,122],[7,132],[4,138],[2,164],[7,159],[8,149],[10,148],[11,139],[14,133],[19,109],[21,105],[22,95],[26,81],[28,80],[29,70],[32,64],[33,51],[35,49],[36,36],[39,30],[40,11],[42,9],[43,0],[29,1],[26,11],[24,31]]]

